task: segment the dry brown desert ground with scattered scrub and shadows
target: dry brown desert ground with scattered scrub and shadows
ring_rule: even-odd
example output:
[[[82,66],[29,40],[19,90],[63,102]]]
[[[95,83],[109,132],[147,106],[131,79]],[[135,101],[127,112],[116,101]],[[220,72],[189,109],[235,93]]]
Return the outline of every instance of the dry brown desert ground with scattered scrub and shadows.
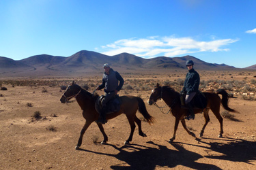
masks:
[[[100,84],[101,75],[0,79],[0,86],[7,88],[0,90],[0,169],[255,169],[256,71],[198,72],[201,90],[225,88],[233,96],[229,107],[239,112],[223,114],[222,138],[218,138],[218,120],[210,112],[203,137],[199,137],[203,114],[196,114],[195,120],[186,120],[186,124],[197,139],[188,135],[180,123],[175,141],[169,143],[174,117],[147,104],[157,82],[179,91],[186,71],[122,73],[125,84],[119,95],[141,97],[156,122],[150,125],[142,121],[147,137],[139,136],[136,128],[128,145],[124,141],[130,134],[130,125],[124,114],[104,124],[109,137],[104,145],[100,144],[103,136],[93,123],[85,132],[80,150],[75,146],[85,119],[76,101],[59,101],[65,91],[60,86],[76,80],[76,84],[92,92]],[[158,101],[158,105],[165,103]],[[35,112],[40,112],[42,118],[33,118]],[[137,117],[143,120],[139,112]]]

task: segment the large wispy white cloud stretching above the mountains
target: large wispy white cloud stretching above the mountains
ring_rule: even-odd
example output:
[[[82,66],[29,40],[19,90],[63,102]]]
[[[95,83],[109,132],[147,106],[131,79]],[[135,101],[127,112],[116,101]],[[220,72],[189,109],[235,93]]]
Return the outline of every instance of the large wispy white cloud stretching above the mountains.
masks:
[[[102,54],[113,56],[128,52],[137,56],[152,58],[154,56],[178,56],[196,52],[228,51],[227,46],[238,39],[213,39],[212,41],[197,41],[191,37],[158,37],[152,36],[143,39],[120,39],[113,44],[102,46]]]

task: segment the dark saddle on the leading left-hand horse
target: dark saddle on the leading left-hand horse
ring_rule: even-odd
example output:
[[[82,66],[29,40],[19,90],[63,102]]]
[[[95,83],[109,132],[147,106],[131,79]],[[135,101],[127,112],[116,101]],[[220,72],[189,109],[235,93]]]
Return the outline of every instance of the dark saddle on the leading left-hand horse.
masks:
[[[104,95],[101,95],[96,99],[95,102],[95,109],[98,113],[100,113],[100,110],[102,109],[102,100],[104,99]],[[111,114],[113,112],[118,112],[121,106],[121,99],[119,95],[115,95],[113,99],[111,99],[108,103],[106,103],[106,114]]]

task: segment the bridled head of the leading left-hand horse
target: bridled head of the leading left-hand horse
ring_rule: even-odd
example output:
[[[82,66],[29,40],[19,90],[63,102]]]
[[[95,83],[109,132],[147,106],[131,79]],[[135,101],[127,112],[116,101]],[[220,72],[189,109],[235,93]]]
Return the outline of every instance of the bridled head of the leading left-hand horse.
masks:
[[[77,95],[81,92],[82,88],[81,86],[77,85],[74,81],[72,84],[68,86],[66,91],[61,97],[61,103],[67,103],[70,99],[73,97],[76,98]]]

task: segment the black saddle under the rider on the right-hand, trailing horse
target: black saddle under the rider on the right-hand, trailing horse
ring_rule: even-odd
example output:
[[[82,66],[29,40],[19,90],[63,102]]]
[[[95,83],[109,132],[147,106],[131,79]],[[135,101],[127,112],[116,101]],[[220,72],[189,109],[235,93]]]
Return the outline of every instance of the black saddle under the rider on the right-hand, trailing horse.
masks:
[[[182,107],[185,107],[185,98],[186,94],[180,94],[180,101],[182,103]],[[197,92],[197,94],[195,95],[195,97],[193,97],[190,103],[195,109],[205,109],[207,106],[207,99],[203,92]]]

